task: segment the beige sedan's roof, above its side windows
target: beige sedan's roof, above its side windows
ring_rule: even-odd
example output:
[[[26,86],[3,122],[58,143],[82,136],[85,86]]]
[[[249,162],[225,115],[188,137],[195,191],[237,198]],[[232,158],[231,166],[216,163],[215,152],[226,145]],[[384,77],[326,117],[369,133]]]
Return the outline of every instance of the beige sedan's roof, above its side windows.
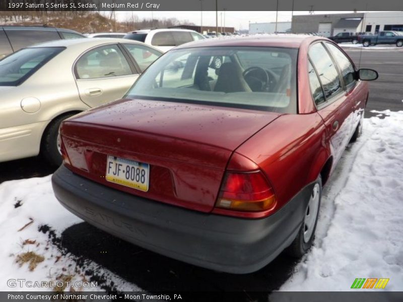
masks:
[[[85,38],[85,39],[66,39],[66,40],[55,40],[44,42],[40,44],[35,44],[29,46],[28,48],[33,47],[95,47],[102,44],[107,43],[131,43],[131,44],[141,44],[146,45],[143,42],[135,41],[135,40],[128,40],[128,39],[121,39],[121,38]],[[150,45],[147,47],[154,48]],[[156,48],[154,48],[156,49]],[[161,52],[161,51],[160,51]]]

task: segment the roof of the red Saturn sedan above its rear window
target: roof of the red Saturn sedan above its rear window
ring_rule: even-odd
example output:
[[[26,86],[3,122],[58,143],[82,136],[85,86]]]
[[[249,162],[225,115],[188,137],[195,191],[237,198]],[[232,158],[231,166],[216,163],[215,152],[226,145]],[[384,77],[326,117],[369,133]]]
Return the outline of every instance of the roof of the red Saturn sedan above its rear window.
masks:
[[[215,39],[197,40],[177,46],[175,49],[218,46],[257,46],[299,48],[305,41],[324,39],[323,37],[299,34],[262,34],[253,36],[226,36]]]

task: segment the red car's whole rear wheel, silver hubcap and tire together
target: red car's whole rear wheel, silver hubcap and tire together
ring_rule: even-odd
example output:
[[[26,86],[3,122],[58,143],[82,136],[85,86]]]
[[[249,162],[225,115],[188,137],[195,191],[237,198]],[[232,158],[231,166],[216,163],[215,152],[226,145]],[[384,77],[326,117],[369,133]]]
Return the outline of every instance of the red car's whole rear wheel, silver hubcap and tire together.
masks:
[[[320,199],[322,197],[322,178],[319,176],[309,195],[308,205],[305,209],[304,221],[297,237],[287,248],[287,253],[292,257],[302,257],[312,246],[315,238],[316,223],[318,221]]]

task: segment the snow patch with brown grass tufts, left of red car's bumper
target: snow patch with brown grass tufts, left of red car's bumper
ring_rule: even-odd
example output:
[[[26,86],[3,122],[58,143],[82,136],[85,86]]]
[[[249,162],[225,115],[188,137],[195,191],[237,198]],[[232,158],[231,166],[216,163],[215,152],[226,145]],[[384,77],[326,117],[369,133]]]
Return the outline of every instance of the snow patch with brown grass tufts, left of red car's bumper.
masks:
[[[82,221],[56,200],[50,176],[0,184],[0,291],[52,291],[66,285],[69,286],[65,290],[73,286],[75,290],[99,291],[101,285],[107,285],[87,287],[89,284],[85,282],[92,284],[93,276],[86,275],[86,270],[118,284],[118,290],[140,290],[96,263],[81,261],[79,266],[75,257],[58,248],[61,232]],[[20,263],[16,262],[18,259]],[[20,265],[22,260],[27,262]],[[49,283],[42,288],[32,287],[34,283],[18,282],[16,287],[9,287],[10,279]],[[13,284],[10,281],[9,285]]]

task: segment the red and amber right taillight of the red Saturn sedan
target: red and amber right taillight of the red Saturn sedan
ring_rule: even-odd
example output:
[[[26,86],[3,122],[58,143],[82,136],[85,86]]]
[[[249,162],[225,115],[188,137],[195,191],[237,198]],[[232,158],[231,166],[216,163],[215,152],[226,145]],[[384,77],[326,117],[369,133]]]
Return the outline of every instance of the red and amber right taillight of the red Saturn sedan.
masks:
[[[276,205],[273,188],[260,171],[227,172],[216,207],[245,212],[266,211]]]

